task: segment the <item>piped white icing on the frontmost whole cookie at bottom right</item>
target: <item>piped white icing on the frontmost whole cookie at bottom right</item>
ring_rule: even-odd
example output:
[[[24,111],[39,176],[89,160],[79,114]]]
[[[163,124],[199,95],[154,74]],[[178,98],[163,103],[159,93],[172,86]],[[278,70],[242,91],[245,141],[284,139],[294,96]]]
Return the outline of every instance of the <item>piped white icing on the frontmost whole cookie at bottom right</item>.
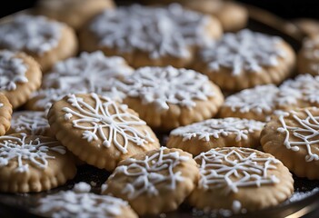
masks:
[[[258,157],[250,149],[211,149],[194,158],[200,161],[199,188],[212,190],[223,188],[225,194],[238,193],[241,187],[279,183],[269,173],[279,161],[273,157]]]

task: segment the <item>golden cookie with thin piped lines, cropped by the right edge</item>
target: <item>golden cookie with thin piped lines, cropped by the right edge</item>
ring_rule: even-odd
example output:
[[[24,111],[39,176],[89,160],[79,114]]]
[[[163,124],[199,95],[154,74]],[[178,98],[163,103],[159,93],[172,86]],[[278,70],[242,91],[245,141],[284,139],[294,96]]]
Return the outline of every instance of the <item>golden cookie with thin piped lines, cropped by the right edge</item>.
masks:
[[[261,144],[298,177],[319,179],[319,109],[308,107],[274,117],[264,127]]]

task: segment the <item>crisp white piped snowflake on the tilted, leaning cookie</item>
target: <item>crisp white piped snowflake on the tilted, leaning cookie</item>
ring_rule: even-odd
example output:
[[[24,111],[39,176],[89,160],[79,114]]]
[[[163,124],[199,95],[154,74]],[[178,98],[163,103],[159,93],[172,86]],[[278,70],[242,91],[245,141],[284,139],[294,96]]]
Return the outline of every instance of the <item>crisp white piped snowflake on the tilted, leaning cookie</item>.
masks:
[[[72,121],[75,128],[83,130],[82,136],[87,142],[100,139],[105,148],[113,144],[123,154],[127,153],[129,142],[137,146],[155,142],[148,131],[135,128],[146,123],[134,114],[126,113],[125,104],[118,106],[110,98],[94,93],[91,98],[95,101],[94,106],[75,94],[68,94],[67,102],[71,105],[62,109],[65,120]],[[105,131],[108,133],[105,134]],[[123,143],[118,137],[123,139]]]

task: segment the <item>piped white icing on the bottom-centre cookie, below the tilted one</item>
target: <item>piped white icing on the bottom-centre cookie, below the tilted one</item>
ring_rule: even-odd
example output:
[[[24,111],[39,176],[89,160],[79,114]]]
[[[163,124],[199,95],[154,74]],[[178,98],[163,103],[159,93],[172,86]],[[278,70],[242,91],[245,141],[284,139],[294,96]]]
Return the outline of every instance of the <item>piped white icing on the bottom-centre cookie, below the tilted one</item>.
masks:
[[[124,173],[134,178],[132,183],[126,183],[122,191],[127,194],[128,199],[135,199],[144,193],[148,196],[157,196],[159,194],[157,185],[167,190],[175,190],[177,183],[184,181],[182,172],[174,172],[174,168],[189,160],[189,157],[178,152],[164,154],[165,149],[167,148],[160,147],[158,152],[146,155],[144,160],[126,159],[127,164],[115,168],[111,178],[117,173]]]

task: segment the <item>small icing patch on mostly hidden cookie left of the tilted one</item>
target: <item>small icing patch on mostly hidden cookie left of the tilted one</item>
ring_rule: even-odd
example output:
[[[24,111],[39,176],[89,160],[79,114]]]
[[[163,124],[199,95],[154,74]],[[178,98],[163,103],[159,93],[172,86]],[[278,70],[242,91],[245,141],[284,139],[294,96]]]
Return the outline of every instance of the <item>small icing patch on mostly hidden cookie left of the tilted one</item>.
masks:
[[[43,135],[50,128],[45,112],[22,111],[15,112],[11,120],[11,128],[15,133]]]

